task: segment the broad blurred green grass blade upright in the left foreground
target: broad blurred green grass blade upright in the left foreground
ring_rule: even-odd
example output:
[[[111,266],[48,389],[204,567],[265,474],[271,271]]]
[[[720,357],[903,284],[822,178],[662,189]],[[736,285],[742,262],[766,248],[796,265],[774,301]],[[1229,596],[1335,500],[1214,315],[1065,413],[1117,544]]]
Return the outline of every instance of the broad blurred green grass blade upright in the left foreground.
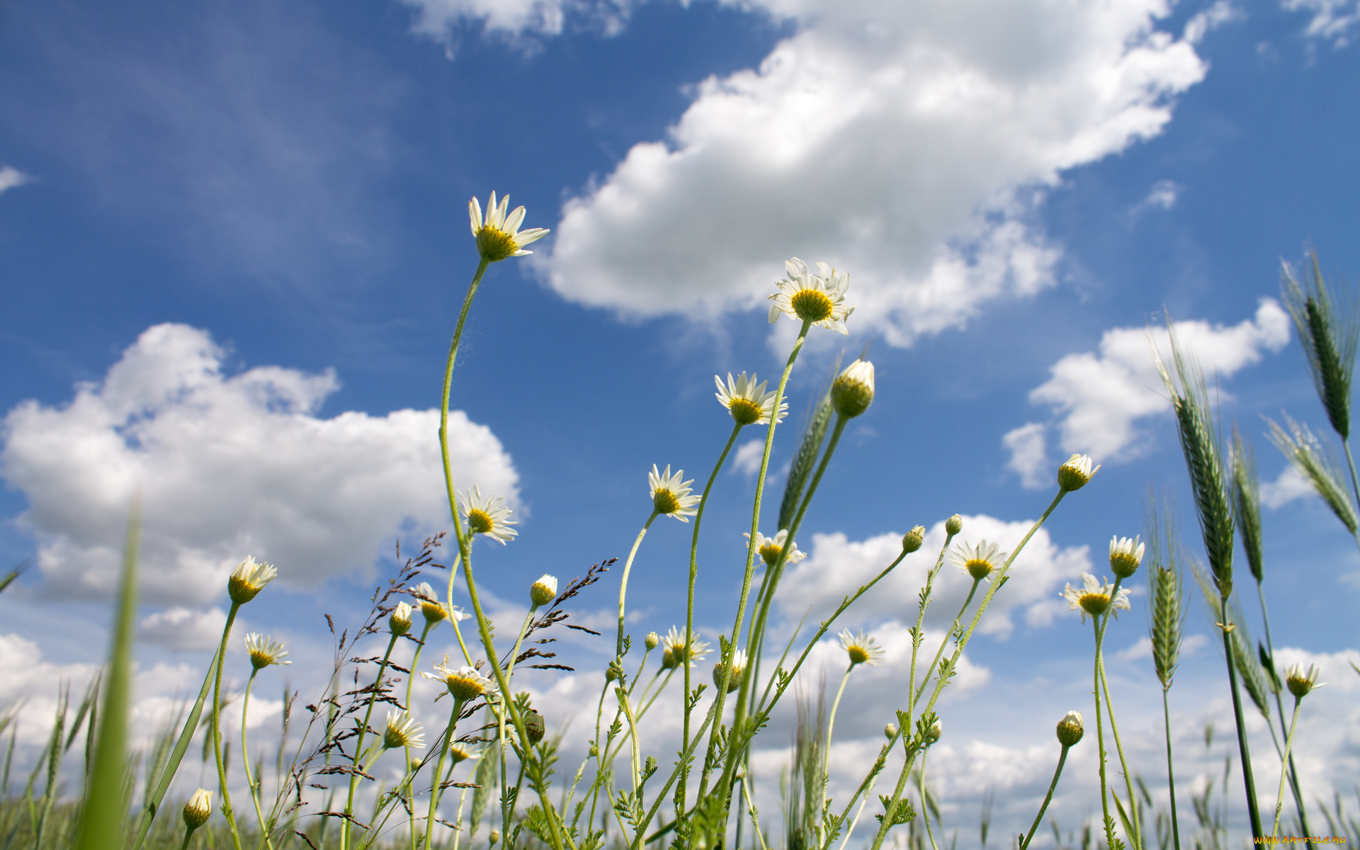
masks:
[[[109,657],[94,764],[86,785],[84,808],[80,812],[76,850],[113,850],[122,845],[124,820],[128,813],[124,770],[128,751],[128,711],[132,702],[132,630],[137,609],[140,513],[140,507],[135,503],[128,518],[122,577],[118,581],[118,601],[113,617],[113,650]]]

